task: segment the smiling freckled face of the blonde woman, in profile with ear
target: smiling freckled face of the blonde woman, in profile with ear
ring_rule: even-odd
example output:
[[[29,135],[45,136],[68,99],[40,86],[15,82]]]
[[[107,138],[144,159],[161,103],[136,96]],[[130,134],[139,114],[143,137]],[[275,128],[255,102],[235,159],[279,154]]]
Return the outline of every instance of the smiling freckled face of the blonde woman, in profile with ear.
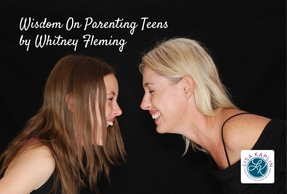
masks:
[[[153,71],[147,65],[143,70],[145,95],[141,108],[151,114],[159,133],[176,133],[176,128],[184,122],[183,95],[181,83],[171,85],[170,80]]]

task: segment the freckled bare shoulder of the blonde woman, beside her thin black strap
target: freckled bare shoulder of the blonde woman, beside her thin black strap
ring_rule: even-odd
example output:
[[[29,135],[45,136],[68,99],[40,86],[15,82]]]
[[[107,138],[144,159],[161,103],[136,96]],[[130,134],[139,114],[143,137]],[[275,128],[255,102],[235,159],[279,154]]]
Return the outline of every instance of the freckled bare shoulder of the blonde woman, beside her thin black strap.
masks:
[[[240,159],[241,150],[251,150],[269,121],[269,118],[254,114],[242,114],[229,119],[223,128],[228,156],[231,159],[232,155],[238,158],[239,154]]]

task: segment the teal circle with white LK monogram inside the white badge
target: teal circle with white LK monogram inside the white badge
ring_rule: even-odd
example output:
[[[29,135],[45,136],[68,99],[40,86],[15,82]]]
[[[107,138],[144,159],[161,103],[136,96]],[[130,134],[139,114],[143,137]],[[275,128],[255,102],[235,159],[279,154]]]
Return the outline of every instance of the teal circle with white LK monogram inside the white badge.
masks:
[[[259,179],[265,176],[268,171],[267,162],[260,157],[255,157],[249,160],[247,164],[247,172],[253,178]]]

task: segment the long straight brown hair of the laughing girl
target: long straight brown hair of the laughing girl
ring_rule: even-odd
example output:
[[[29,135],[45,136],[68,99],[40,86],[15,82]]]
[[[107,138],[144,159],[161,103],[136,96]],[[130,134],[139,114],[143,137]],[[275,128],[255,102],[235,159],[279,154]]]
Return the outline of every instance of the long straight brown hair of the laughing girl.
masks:
[[[118,164],[119,156],[124,160],[125,155],[117,120],[113,126],[106,128],[103,124],[100,129],[97,127],[97,119],[106,123],[104,76],[108,74],[115,74],[115,71],[93,57],[68,55],[59,60],[47,80],[41,109],[1,155],[0,160],[3,159],[4,163],[0,174],[31,145],[27,142],[36,138],[39,141],[32,144],[48,146],[56,162],[51,193],[59,184],[62,193],[78,193],[84,185],[81,176],[86,177],[90,187],[97,191],[99,174],[105,172],[109,179],[110,165]],[[67,95],[73,98],[72,111],[65,101]],[[100,115],[96,115],[95,108],[91,108],[96,104],[99,105]],[[92,136],[98,134],[97,130],[102,130],[103,146],[92,144],[97,142],[96,135]],[[109,134],[107,137],[106,132]]]

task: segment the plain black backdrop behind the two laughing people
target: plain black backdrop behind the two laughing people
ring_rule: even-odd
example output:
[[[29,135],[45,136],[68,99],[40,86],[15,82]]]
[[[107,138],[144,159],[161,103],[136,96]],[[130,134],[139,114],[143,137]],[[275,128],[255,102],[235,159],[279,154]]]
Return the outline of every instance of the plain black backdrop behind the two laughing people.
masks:
[[[128,154],[127,163],[113,167],[111,185],[102,177],[101,193],[221,193],[208,171],[206,156],[189,150],[178,134],[158,134],[148,111],[140,109],[144,94],[138,70],[141,53],[156,41],[175,36],[201,41],[212,57],[223,83],[240,109],[270,118],[286,119],[286,1],[10,1],[1,3],[1,151],[42,103],[45,81],[56,62],[68,53],[86,51],[116,68],[119,125]],[[33,22],[61,22],[62,28],[20,30],[21,18]],[[82,24],[67,30],[72,17]],[[136,22],[130,28],[84,30],[93,22]],[[167,28],[147,28],[147,22],[167,22]],[[31,21],[32,22],[32,21]],[[35,47],[36,36],[78,39],[74,46]],[[119,46],[85,48],[83,36],[125,39]],[[20,37],[31,39],[29,50]],[[112,36],[112,38],[110,38]],[[89,193],[89,188],[83,193]],[[91,193],[93,193],[91,191]]]

